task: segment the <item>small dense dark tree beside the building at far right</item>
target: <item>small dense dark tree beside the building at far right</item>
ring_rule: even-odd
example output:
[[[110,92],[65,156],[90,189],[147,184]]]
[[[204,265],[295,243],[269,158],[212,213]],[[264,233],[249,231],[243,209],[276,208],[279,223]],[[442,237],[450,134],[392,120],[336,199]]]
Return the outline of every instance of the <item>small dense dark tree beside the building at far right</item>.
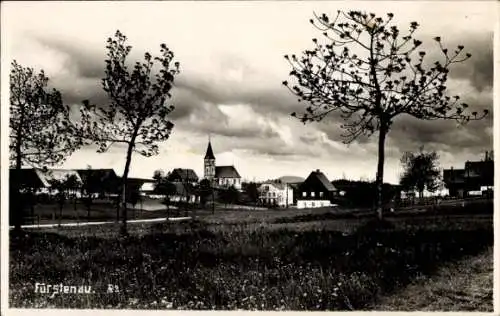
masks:
[[[424,190],[435,192],[440,185],[439,156],[435,151],[405,152],[401,157],[404,172],[400,179],[401,186],[407,191],[418,191],[419,197],[424,196]]]

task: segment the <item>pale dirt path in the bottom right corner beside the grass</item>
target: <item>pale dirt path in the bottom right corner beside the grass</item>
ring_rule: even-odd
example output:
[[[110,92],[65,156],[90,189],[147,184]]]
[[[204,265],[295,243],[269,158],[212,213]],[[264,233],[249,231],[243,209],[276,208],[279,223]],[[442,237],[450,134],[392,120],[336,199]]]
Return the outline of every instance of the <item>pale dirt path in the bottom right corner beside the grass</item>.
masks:
[[[384,311],[493,311],[493,248],[441,267],[373,307]]]

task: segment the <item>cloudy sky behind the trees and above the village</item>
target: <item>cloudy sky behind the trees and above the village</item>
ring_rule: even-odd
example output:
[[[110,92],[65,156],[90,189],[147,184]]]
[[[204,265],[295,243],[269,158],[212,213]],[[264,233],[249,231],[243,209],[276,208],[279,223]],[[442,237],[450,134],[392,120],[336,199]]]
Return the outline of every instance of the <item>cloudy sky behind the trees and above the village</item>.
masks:
[[[151,177],[156,169],[193,168],[202,175],[211,135],[218,165],[234,164],[243,178],[261,180],[321,169],[331,179],[375,176],[377,137],[346,146],[341,120],[329,117],[303,125],[290,117],[304,105],[281,85],[289,79],[285,54],[311,49],[320,37],[309,23],[313,12],[333,15],[338,9],[384,14],[398,25],[421,27],[416,37],[432,44],[463,44],[472,53],[452,70],[449,88],[473,108],[493,108],[494,2],[9,2],[2,3],[4,61],[44,69],[64,101],[78,107],[83,99],[107,102],[100,86],[105,41],[119,29],[133,46],[132,59],[159,52],[161,43],[181,63],[172,103],[171,138],[151,158],[133,157],[131,176]],[[421,145],[437,150],[441,166],[461,167],[492,148],[493,117],[457,127],[453,122],[420,122],[400,117],[386,146],[385,178],[397,182],[399,158]],[[125,149],[105,154],[83,148],[65,168],[124,166]]]

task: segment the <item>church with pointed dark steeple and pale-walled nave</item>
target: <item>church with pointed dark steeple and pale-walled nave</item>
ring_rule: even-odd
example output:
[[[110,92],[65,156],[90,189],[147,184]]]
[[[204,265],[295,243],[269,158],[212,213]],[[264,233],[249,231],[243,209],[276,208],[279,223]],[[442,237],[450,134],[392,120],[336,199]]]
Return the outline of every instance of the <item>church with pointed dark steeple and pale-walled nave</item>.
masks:
[[[204,178],[219,187],[234,186],[241,190],[241,176],[234,166],[216,166],[212,144],[208,141],[207,152],[204,159]]]

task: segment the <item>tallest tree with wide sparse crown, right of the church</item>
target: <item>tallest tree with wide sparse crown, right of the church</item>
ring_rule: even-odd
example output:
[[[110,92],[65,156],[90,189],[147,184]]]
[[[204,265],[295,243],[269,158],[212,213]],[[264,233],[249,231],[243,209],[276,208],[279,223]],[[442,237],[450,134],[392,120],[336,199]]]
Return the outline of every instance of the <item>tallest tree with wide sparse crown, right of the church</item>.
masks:
[[[338,11],[331,20],[326,14],[315,14],[310,22],[322,31],[325,43],[313,39],[313,49],[301,57],[285,55],[297,84],[283,82],[299,102],[309,104],[305,113],[292,113],[304,124],[340,113],[345,120],[342,137],[346,144],[378,131],[376,210],[380,219],[385,140],[397,116],[465,124],[488,114],[487,110],[469,113],[459,96],[446,93],[450,68],[471,57],[464,47],[445,48],[441,38],[435,37],[442,58],[429,61],[426,52],[419,50],[422,41],[413,37],[419,24],[412,22],[402,34],[393,24],[393,16]]]

